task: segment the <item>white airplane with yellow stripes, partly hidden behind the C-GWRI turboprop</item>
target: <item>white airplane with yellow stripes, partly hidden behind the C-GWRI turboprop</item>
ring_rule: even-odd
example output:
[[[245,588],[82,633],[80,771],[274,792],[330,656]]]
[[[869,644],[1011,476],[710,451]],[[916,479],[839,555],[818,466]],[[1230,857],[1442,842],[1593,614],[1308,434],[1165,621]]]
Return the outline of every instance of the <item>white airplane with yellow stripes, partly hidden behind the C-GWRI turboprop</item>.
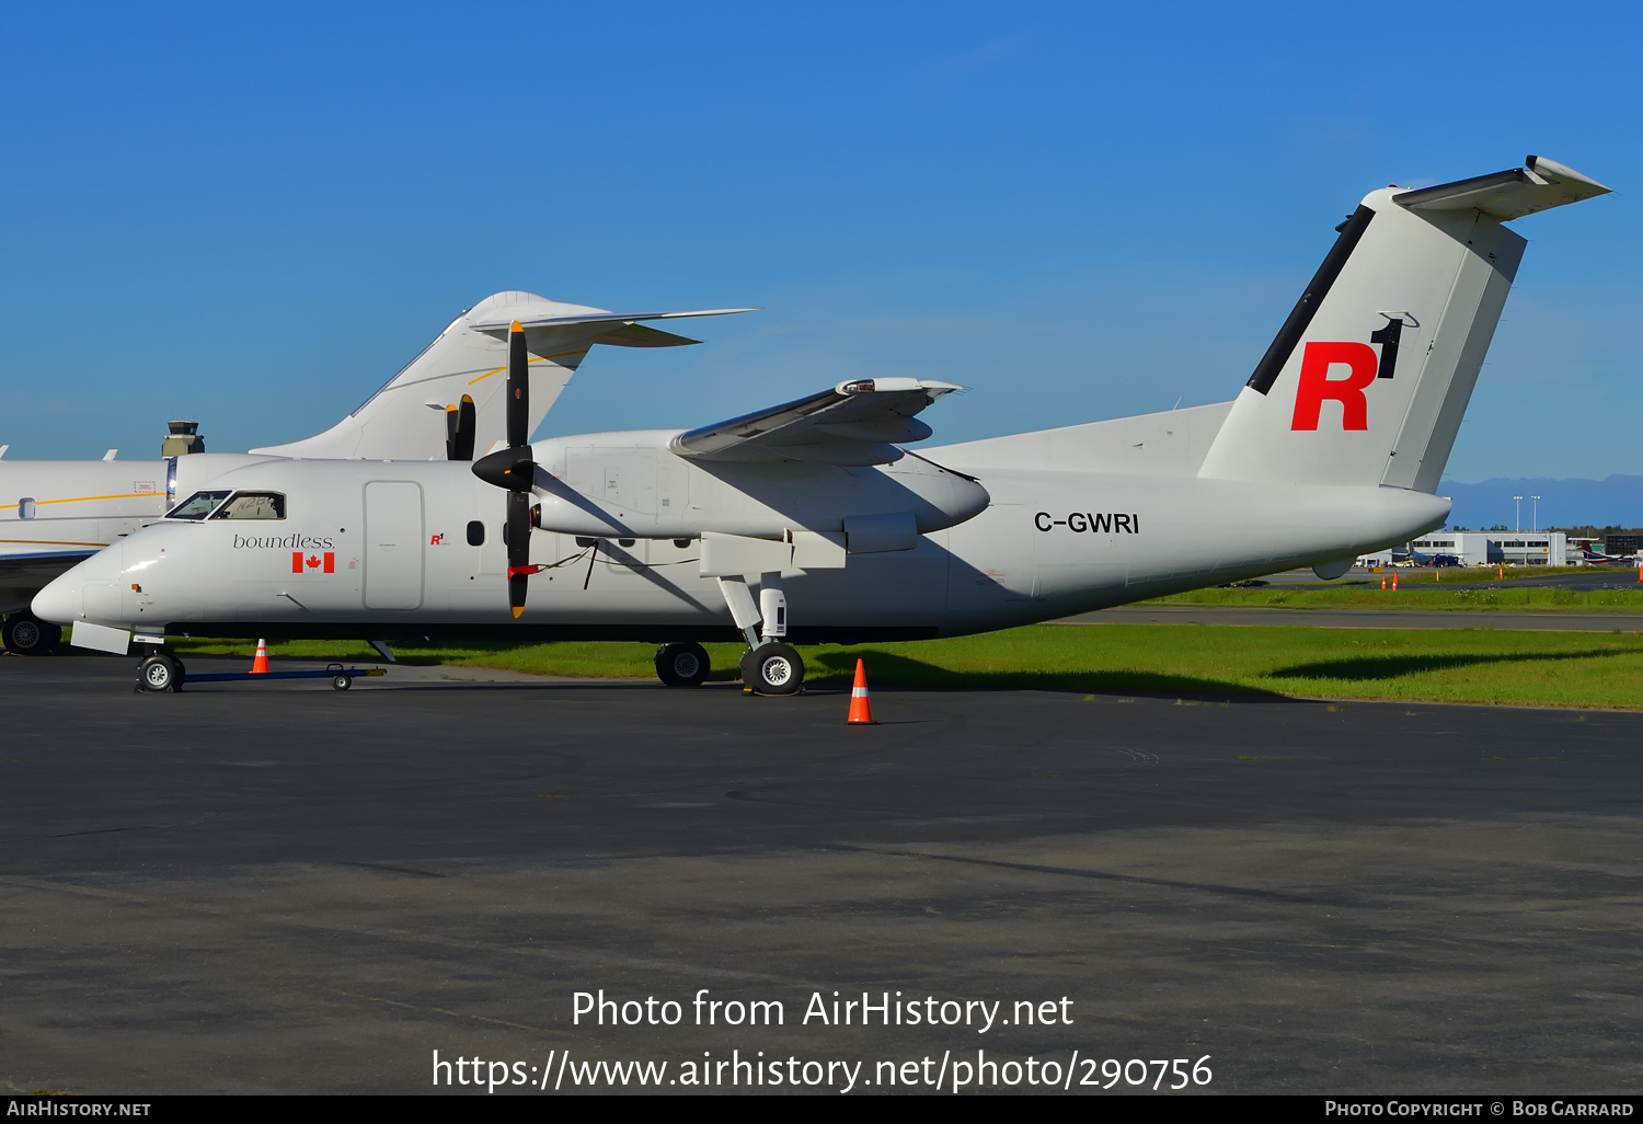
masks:
[[[496,293],[452,320],[404,370],[332,429],[289,445],[253,449],[274,457],[366,460],[472,460],[506,427],[503,385],[508,327],[521,320],[531,365],[534,431],[595,343],[677,347],[698,340],[639,320],[746,312],[608,312],[549,301],[534,293]],[[3,455],[0,449],[0,455]],[[265,458],[253,458],[265,463]],[[246,455],[191,454],[164,460],[0,460],[0,613],[5,647],[49,651],[58,626],[28,611],[35,593],[176,506]]]

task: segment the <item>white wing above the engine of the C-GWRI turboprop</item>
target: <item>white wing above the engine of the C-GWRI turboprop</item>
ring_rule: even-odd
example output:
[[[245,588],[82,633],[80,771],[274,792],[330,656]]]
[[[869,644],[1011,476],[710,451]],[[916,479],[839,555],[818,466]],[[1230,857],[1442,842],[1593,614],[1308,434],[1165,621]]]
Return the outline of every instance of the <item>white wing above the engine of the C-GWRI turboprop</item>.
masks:
[[[902,458],[897,444],[933,431],[918,421],[925,406],[951,394],[953,383],[917,378],[864,378],[830,391],[690,429],[672,450],[693,460],[810,460],[825,465],[887,465]]]

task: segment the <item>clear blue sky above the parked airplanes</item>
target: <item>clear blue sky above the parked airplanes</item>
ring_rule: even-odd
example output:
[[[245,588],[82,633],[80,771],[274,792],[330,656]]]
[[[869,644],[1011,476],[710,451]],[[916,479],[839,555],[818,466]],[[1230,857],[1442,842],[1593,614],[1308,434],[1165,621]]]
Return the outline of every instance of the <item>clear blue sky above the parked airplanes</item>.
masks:
[[[937,442],[1232,398],[1367,191],[1526,153],[1449,470],[1636,472],[1636,7],[51,5],[0,38],[0,442],[317,432],[498,289],[752,304],[601,348],[542,434],[841,378]]]

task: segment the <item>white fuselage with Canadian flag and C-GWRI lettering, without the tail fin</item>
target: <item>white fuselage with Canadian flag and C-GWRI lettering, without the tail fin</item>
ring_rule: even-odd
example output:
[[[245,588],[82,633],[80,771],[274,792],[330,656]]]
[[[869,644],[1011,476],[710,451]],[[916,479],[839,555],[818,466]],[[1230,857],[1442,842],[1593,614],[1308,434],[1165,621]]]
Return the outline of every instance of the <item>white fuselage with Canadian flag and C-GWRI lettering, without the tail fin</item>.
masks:
[[[281,518],[265,504],[263,518],[161,519],[54,582],[35,611],[140,636],[734,639],[702,574],[703,531],[782,539],[838,532],[840,513],[912,511],[912,549],[782,574],[790,639],[912,639],[1352,557],[1449,509],[1401,488],[966,468],[943,450],[772,473],[674,457],[665,435],[536,445],[545,529],[531,560],[547,569],[518,621],[506,493],[449,462],[248,462],[210,488],[278,495]]]

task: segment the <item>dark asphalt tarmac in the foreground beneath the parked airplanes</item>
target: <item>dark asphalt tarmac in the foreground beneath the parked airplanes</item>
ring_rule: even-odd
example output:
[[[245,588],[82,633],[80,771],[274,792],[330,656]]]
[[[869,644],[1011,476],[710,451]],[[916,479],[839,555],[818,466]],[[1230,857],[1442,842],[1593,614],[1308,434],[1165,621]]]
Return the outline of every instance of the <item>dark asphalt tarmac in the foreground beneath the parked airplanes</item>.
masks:
[[[414,1093],[434,1050],[513,1091],[568,1050],[564,1093],[759,1050],[861,1062],[856,1093],[978,1050],[1208,1055],[1222,1093],[1643,1085],[1643,715],[1183,682],[876,692],[848,728],[841,693],[435,675],[136,695],[125,659],[0,659],[0,1085]],[[601,988],[680,1022],[575,1024]],[[698,989],[784,1024],[693,1025]],[[833,991],[1002,1006],[805,1024]]]

